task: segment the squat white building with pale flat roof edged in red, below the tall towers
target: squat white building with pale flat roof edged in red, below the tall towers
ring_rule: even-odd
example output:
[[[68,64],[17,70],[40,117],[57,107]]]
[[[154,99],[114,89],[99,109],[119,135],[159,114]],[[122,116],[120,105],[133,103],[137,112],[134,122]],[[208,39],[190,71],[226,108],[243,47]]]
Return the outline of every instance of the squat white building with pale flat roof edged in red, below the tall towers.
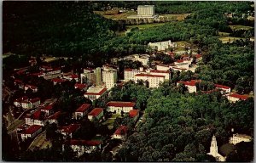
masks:
[[[89,87],[87,92],[84,93],[84,97],[94,101],[97,98],[104,98],[107,94],[108,91],[106,87]]]

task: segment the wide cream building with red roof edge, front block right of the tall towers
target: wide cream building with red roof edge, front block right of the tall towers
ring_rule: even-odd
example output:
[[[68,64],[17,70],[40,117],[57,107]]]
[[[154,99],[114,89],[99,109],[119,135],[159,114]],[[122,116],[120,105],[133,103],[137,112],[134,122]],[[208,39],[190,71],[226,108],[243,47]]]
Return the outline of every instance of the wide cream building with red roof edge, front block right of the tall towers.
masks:
[[[135,76],[135,82],[137,83],[139,80],[143,80],[143,82],[148,81],[148,87],[150,88],[157,88],[160,86],[160,83],[163,83],[165,81],[165,76],[137,74]]]

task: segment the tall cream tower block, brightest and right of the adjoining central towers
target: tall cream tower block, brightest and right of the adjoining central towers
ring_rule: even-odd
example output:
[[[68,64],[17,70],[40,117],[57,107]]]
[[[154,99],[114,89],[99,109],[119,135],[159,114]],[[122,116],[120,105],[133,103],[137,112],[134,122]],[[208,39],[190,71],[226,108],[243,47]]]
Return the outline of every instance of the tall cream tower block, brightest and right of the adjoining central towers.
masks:
[[[104,82],[107,89],[111,89],[117,82],[117,70],[103,70],[102,82]]]

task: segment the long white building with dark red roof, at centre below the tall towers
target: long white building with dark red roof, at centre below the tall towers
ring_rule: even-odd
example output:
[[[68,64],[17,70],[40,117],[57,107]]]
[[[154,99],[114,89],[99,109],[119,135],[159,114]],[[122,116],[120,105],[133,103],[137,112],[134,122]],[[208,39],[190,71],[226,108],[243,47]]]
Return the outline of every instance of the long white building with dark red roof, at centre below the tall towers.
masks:
[[[122,102],[122,101],[110,101],[107,104],[108,110],[111,112],[116,111],[117,114],[129,113],[130,110],[134,109],[135,103],[132,102]]]

